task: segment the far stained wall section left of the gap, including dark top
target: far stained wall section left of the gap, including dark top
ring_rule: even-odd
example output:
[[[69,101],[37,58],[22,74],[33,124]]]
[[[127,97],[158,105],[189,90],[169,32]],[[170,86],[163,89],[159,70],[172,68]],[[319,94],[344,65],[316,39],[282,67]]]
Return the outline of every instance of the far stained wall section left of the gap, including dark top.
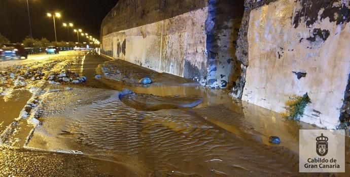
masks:
[[[225,88],[239,73],[242,14],[242,1],[122,0],[101,24],[102,53]]]

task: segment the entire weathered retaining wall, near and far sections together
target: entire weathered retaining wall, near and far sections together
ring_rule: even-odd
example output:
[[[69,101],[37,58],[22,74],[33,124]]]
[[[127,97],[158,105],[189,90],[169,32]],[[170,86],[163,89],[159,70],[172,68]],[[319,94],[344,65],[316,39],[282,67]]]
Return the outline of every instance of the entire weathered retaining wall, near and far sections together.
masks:
[[[335,128],[340,113],[350,119],[349,6],[121,0],[101,24],[102,52],[208,87],[232,87],[232,96],[276,112],[307,93],[312,103],[301,121]]]

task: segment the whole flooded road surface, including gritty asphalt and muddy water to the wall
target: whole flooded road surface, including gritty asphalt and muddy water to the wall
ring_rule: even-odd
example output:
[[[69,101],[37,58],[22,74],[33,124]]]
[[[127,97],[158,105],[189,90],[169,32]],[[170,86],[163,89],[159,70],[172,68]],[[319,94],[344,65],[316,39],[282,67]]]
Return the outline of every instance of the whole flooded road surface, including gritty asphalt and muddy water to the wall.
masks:
[[[0,130],[5,130],[30,97],[38,100],[19,123],[39,122],[31,131],[19,124],[9,141],[23,137],[17,134],[26,136],[0,149],[0,172],[6,176],[321,175],[298,173],[298,131],[314,129],[311,125],[286,121],[280,114],[234,100],[225,91],[93,52],[72,52],[38,65],[53,61],[42,79],[21,88],[36,87],[33,94],[16,91],[11,98],[19,100],[0,102],[2,112],[11,109],[0,121]],[[23,64],[23,70],[29,64]],[[50,82],[52,73],[63,71],[87,80]],[[142,77],[153,83],[137,83]],[[12,82],[6,84],[2,86],[11,87]],[[136,94],[120,100],[123,88]],[[194,108],[169,107],[199,98]],[[149,105],[157,109],[145,109]],[[279,136],[281,144],[270,144],[269,136]],[[347,158],[346,168],[349,162]]]

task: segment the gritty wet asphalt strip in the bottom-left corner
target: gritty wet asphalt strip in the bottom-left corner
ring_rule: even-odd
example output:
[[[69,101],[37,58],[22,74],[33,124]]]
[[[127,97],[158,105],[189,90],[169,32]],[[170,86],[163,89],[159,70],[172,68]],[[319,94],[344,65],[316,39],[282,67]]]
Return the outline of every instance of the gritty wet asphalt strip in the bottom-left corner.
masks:
[[[0,147],[0,176],[135,176],[122,166],[84,155]]]

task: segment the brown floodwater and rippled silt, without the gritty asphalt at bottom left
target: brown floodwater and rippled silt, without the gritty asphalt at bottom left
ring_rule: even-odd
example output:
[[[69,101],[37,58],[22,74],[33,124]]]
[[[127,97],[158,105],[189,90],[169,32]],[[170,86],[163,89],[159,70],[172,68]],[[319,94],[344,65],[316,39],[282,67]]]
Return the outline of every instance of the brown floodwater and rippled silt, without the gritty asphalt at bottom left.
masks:
[[[284,121],[277,113],[232,100],[224,91],[192,83],[144,87],[94,79],[106,60],[95,55],[80,60],[71,69],[88,81],[46,95],[43,125],[34,131],[28,149],[84,154],[106,163],[102,169],[127,176],[302,175],[297,172],[298,130],[312,126]],[[119,100],[123,88],[157,96],[196,95],[203,103],[193,109],[144,111]],[[272,135],[281,137],[281,144],[269,144]]]

